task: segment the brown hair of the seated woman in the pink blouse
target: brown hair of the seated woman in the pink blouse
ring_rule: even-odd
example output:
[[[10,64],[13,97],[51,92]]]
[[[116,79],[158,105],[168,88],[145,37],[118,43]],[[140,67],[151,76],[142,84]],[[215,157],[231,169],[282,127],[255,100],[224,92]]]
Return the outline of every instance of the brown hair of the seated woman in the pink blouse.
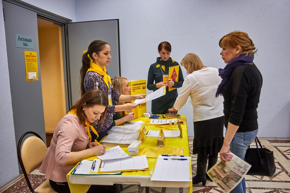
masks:
[[[101,105],[106,106],[105,111],[103,112],[103,116],[101,116],[101,119],[98,121],[99,124],[104,122],[105,114],[107,113],[109,101],[107,96],[103,93],[103,91],[99,89],[93,89],[86,92],[82,97],[70,108],[76,110],[76,115],[79,117],[79,122],[83,123],[85,125],[86,115],[83,111],[83,105],[86,107],[93,107],[95,105]]]

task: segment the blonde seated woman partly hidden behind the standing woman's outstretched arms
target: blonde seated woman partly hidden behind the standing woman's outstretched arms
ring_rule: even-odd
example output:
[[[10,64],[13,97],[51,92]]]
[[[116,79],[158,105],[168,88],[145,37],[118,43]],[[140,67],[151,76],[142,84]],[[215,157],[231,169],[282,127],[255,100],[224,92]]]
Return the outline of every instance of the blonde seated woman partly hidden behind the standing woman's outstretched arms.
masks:
[[[131,87],[128,84],[127,78],[124,77],[115,77],[112,80],[112,85],[117,90],[119,94],[130,95]],[[123,105],[124,102],[115,102],[112,101],[113,105]],[[132,121],[134,119],[134,112],[125,114],[124,111],[119,111],[113,116],[113,123],[111,127],[118,126],[126,121]]]

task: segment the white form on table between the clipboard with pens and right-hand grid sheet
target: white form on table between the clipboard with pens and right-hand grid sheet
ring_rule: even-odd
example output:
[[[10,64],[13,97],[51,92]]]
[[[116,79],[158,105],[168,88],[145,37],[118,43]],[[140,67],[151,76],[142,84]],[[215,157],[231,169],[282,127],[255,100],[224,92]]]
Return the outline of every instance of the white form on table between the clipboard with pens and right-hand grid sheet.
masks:
[[[145,156],[126,157],[122,159],[104,160],[100,172],[146,169],[148,162]]]

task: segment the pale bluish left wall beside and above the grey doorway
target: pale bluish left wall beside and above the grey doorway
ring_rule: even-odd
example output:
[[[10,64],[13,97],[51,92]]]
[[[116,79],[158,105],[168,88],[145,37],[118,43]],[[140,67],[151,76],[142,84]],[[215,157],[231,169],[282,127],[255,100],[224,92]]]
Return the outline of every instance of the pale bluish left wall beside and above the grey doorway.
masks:
[[[76,20],[74,0],[37,1],[26,0],[27,4],[52,12],[53,14]],[[0,190],[19,177],[10,81],[3,20],[2,1],[0,1]]]

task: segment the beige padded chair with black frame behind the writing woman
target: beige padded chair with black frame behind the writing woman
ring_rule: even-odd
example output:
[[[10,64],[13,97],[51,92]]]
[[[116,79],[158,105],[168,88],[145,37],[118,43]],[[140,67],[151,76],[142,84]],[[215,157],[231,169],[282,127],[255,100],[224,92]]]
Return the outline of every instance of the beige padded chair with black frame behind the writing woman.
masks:
[[[28,137],[24,140],[22,146],[22,140],[25,135],[34,134],[35,136]],[[57,193],[49,184],[49,180],[43,182],[36,191],[33,190],[27,174],[31,173],[34,169],[39,167],[47,152],[47,147],[42,138],[35,132],[28,131],[24,133],[18,142],[17,156],[20,163],[23,175],[27,182],[28,188],[33,193]]]

